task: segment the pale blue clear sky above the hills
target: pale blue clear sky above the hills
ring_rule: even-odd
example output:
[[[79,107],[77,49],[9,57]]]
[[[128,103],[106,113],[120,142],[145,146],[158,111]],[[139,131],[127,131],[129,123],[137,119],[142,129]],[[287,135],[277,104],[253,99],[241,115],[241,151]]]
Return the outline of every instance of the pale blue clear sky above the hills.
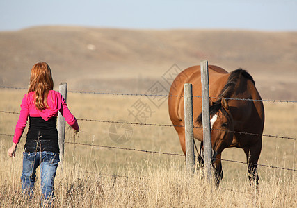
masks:
[[[1,0],[0,31],[31,26],[297,31],[297,0]]]

